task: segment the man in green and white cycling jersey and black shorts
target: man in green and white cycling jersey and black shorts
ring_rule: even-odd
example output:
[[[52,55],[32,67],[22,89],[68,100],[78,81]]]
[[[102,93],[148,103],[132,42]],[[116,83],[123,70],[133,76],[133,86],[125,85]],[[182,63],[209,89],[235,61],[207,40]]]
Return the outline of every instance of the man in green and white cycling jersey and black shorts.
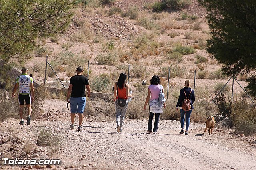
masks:
[[[28,117],[27,117],[27,125],[30,125],[31,121],[31,103],[34,101],[34,85],[33,78],[30,77],[27,72],[27,67],[22,67],[21,69],[22,75],[18,76],[15,81],[15,85],[12,91],[12,97],[15,97],[15,92],[19,87],[19,102],[20,102],[20,125],[24,125],[22,110],[24,108],[24,101],[26,102],[26,106],[28,108]],[[31,95],[30,95],[31,91]]]

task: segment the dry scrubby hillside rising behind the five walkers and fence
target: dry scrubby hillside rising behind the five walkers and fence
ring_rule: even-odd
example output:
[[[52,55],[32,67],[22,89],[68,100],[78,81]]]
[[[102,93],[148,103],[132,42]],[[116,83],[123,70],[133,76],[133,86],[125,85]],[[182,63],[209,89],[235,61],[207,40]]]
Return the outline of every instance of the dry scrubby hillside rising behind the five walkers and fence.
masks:
[[[89,80],[93,91],[112,92],[112,86],[121,72],[128,72],[130,64],[130,84],[134,91],[134,100],[127,117],[146,117],[142,114],[142,101],[146,97],[142,80],[150,83],[152,75],[161,76],[162,85],[167,91],[168,68],[170,67],[170,89],[164,119],[177,119],[174,106],[185,79],[194,86],[196,70],[196,103],[192,121],[203,121],[206,115],[216,113],[209,96],[226,83],[221,65],[211,58],[205,50],[210,30],[204,16],[206,12],[198,6],[196,0],[188,8],[174,10],[166,8],[162,12],[153,12],[154,0],[117,0],[112,4],[98,6],[89,1],[73,9],[74,18],[68,30],[60,35],[39,40],[40,46],[34,51],[34,57],[28,61],[30,73],[38,82],[44,81],[46,55],[48,61],[67,86],[75,74],[77,66],[82,65],[87,74],[87,62],[90,61]],[[47,86],[62,88],[54,73],[48,69]],[[246,77],[238,77],[242,86]],[[229,94],[231,83],[225,89]],[[237,97],[242,89],[235,83]],[[65,99],[65,94],[48,94],[52,98]],[[205,99],[204,99],[205,98]],[[94,105],[89,109],[94,113]],[[108,116],[114,114],[111,103]],[[104,110],[104,109],[103,109]]]

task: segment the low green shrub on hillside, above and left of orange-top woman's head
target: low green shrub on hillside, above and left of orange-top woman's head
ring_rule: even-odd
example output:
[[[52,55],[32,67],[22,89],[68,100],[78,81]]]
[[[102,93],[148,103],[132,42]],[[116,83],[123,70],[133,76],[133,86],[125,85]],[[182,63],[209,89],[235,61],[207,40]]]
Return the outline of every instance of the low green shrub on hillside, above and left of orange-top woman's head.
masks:
[[[98,64],[103,64],[103,65],[116,65],[117,56],[115,53],[108,53],[106,55],[98,54],[95,57],[95,61]]]

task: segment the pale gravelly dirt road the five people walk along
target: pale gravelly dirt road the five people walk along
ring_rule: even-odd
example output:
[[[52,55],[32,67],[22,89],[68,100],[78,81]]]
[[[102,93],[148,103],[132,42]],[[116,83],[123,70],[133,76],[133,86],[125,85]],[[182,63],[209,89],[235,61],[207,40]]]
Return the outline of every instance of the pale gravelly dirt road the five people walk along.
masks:
[[[256,169],[255,145],[228,131],[209,136],[200,124],[190,124],[189,135],[184,136],[178,134],[178,121],[160,120],[156,135],[146,133],[146,120],[127,120],[120,133],[113,121],[85,121],[82,132],[69,130],[69,121],[32,121],[30,126],[18,125],[18,121],[1,123],[1,129],[16,129],[1,130],[1,138],[15,134],[34,143],[40,128],[62,136],[62,148],[52,157],[62,160],[58,169]],[[2,144],[0,151],[8,147]],[[39,158],[46,152],[38,152]]]

